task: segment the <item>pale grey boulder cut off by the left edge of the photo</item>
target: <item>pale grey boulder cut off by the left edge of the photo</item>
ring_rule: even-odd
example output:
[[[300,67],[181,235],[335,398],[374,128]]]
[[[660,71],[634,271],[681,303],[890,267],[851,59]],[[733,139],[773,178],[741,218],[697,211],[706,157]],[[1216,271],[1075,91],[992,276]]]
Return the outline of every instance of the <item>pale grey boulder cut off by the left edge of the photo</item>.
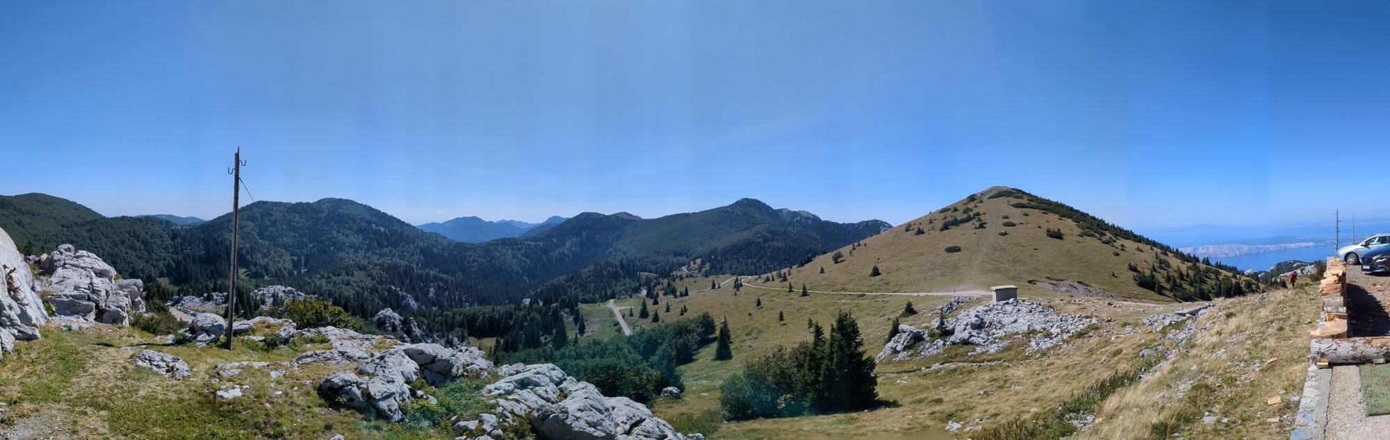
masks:
[[[33,285],[29,264],[0,229],[0,358],[14,350],[15,340],[39,339],[39,326],[47,322]]]

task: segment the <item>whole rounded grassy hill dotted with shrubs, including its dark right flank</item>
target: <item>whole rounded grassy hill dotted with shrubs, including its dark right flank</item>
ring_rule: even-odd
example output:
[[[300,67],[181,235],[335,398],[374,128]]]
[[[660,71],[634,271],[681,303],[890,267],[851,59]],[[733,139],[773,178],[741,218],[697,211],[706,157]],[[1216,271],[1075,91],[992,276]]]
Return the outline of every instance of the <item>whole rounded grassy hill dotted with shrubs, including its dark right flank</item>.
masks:
[[[806,285],[823,291],[952,291],[1016,285],[1034,294],[1141,301],[1212,298],[1259,289],[1232,268],[1202,264],[1072,207],[1008,187],[972,194],[838,251],[844,255],[838,264],[826,254],[791,268],[785,282],[773,272],[763,273],[769,282],[749,283],[784,289],[791,282],[796,289]],[[870,276],[874,266],[881,275]],[[1155,286],[1141,286],[1136,275],[1150,273]],[[1079,282],[1081,287],[1049,290],[1041,285],[1059,282]]]

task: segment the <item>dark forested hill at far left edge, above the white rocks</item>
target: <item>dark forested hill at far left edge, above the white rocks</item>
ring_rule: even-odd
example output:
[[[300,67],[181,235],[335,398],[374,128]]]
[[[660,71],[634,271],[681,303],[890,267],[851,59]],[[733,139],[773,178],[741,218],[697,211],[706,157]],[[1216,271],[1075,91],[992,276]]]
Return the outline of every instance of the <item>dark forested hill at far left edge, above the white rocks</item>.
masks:
[[[0,228],[19,246],[29,240],[57,246],[40,243],[40,237],[100,218],[104,217],[88,207],[49,194],[0,196]]]

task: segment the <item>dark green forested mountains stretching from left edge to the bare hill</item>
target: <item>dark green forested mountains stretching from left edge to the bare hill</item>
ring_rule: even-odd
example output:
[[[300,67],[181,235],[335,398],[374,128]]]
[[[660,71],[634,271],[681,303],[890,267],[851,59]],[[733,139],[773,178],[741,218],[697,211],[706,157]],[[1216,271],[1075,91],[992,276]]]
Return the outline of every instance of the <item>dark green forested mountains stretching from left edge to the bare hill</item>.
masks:
[[[0,197],[0,228],[32,254],[63,243],[90,250],[122,276],[171,286],[161,296],[227,290],[231,215],[179,226],[104,218],[68,200],[22,194]],[[655,219],[585,212],[535,235],[470,244],[350,200],[257,201],[240,210],[236,294],[286,285],[360,318],[389,307],[435,332],[503,336],[491,322],[539,314],[520,305],[523,298],[571,310],[655,290],[651,273],[664,276],[691,261],[710,273],[764,272],[887,228],[878,221],[827,222],[744,198]],[[463,310],[470,305],[498,308]]]

